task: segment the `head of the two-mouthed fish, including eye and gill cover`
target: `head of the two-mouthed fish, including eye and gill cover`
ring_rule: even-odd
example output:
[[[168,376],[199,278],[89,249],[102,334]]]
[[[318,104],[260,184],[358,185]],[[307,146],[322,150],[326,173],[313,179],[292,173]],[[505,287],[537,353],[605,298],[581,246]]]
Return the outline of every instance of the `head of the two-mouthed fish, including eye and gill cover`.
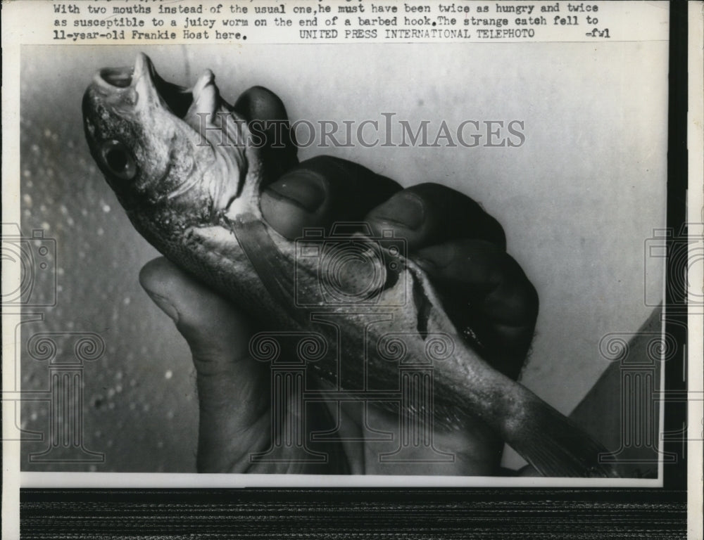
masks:
[[[186,89],[140,53],[133,67],[99,70],[82,108],[92,157],[152,243],[213,224],[234,200],[258,194],[246,121],[222,100],[210,70]]]

